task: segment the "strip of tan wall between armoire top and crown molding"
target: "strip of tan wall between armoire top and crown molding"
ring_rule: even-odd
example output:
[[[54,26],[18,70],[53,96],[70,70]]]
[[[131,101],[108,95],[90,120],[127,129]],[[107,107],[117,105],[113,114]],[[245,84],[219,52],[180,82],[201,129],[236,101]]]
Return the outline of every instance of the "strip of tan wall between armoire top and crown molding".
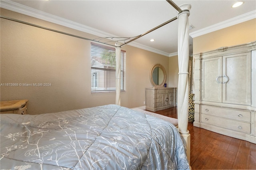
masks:
[[[256,19],[193,38],[193,54],[256,41]]]

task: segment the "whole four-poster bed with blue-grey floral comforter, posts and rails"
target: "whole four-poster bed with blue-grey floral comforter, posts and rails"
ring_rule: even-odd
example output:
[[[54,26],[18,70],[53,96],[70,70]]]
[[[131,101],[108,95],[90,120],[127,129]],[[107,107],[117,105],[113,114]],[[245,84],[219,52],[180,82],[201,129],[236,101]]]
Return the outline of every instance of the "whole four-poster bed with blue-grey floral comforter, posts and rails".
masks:
[[[191,6],[185,4],[178,7],[170,0],[167,0],[167,2],[178,11],[177,17],[140,36],[136,36],[128,42],[122,44],[120,41],[116,41],[114,45],[116,47],[116,105],[50,113],[47,119],[43,118],[46,114],[22,116],[7,114],[1,116],[1,135],[7,139],[3,141],[1,137],[1,166],[24,169],[126,169],[127,167],[188,169],[190,160],[190,134],[187,130],[189,93],[188,16]],[[4,16],[1,16],[1,18],[36,26]],[[179,26],[178,131],[174,125],[166,123],[166,121],[120,107],[121,47],[176,19],[178,19]],[[49,28],[43,29],[74,36]],[[79,36],[74,37],[90,40]],[[96,40],[90,41],[99,42]],[[105,118],[107,119],[105,120]],[[14,127],[14,131],[10,131],[12,129],[10,125]],[[134,127],[131,125],[134,125]],[[151,133],[148,134],[149,131]],[[184,149],[180,135],[177,135],[176,132],[179,132],[186,141],[187,150]],[[57,135],[58,133],[60,136]],[[92,135],[92,133],[94,134]],[[110,135],[111,133],[113,136]],[[89,138],[84,138],[84,134]],[[144,136],[145,134],[147,137]],[[164,138],[166,138],[165,141]],[[100,145],[101,142],[105,145]],[[135,145],[135,148],[132,147],[133,145]],[[29,146],[32,146],[32,148],[28,148]],[[176,153],[172,150],[176,150]],[[184,150],[186,150],[186,154],[184,154]],[[24,151],[26,152],[24,153]],[[111,163],[110,160],[115,162]]]

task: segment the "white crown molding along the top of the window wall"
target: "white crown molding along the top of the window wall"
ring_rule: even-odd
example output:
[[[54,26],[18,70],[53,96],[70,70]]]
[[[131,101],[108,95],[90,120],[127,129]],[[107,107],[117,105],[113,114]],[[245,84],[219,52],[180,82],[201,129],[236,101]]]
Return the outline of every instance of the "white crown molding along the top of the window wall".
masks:
[[[103,31],[97,30],[95,28],[91,28],[91,27],[79,24],[77,22],[72,22],[70,20],[66,20],[64,18],[55,16],[55,15],[52,15],[52,14],[48,14],[46,12],[42,12],[40,10],[30,8],[28,6],[24,6],[22,4],[19,4],[19,3],[16,3],[16,2],[10,1],[10,0],[4,0],[4,1],[1,0],[0,7],[5,8],[7,10],[14,11],[14,12],[18,12],[20,14],[24,14],[24,15],[31,16],[31,17],[34,17],[34,18],[38,18],[40,20],[44,20],[44,21],[52,22],[54,24],[58,24],[58,25],[61,25],[61,26],[72,28],[74,30],[78,30],[78,31],[81,31],[81,32],[86,32],[88,34],[92,34],[92,35],[95,35],[95,36],[99,36],[99,37],[118,37],[118,36],[109,34],[107,32],[103,32]],[[161,55],[165,55],[167,57],[170,56],[169,53],[166,53],[164,51],[161,51],[161,50],[158,50],[158,49],[155,49],[155,48],[152,48],[152,47],[148,47],[148,46],[140,44],[140,43],[131,42],[131,43],[129,43],[129,45],[134,46],[134,47],[138,47],[140,49],[145,49],[147,51],[151,51],[151,52],[154,52],[154,53],[158,53],[158,54],[161,54]]]

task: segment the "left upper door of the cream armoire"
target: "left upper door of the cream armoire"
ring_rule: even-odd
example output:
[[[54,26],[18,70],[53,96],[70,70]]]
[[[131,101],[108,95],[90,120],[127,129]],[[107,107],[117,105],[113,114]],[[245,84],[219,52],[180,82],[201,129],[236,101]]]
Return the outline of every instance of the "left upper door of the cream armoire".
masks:
[[[222,57],[202,59],[201,99],[222,102]]]

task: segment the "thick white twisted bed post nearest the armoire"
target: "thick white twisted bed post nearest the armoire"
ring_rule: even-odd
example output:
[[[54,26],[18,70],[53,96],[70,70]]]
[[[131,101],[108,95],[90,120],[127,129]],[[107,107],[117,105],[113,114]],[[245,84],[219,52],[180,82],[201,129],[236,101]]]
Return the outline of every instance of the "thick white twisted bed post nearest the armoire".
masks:
[[[188,16],[190,15],[190,4],[179,6],[184,10],[178,14],[178,129],[186,140],[187,158],[190,163],[190,134],[188,131],[188,62],[189,62],[189,34]]]

